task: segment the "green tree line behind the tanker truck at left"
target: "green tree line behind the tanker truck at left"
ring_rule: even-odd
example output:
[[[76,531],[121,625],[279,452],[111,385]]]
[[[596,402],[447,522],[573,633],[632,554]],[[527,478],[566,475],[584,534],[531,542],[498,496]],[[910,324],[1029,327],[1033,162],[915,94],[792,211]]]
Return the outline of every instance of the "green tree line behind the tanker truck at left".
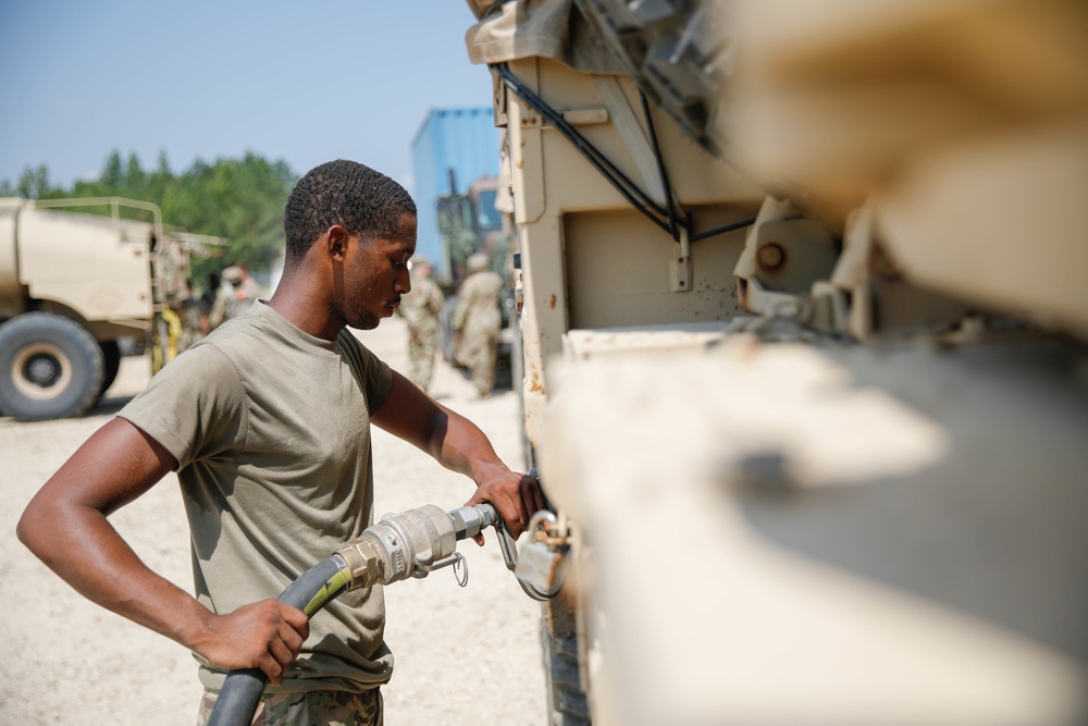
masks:
[[[154,169],[147,170],[135,153],[122,158],[114,150],[106,159],[101,175],[81,180],[65,188],[49,181],[45,164],[27,168],[13,184],[0,180],[0,196],[26,199],[72,197],[127,197],[150,201],[162,210],[168,227],[224,237],[228,241],[221,254],[193,258],[196,284],[227,264],[245,263],[251,270],[269,270],[284,248],[283,207],[298,175],[283,160],[269,161],[257,153],[242,159],[218,159],[214,163],[197,160],[188,170],[175,174],[166,155],[160,152]],[[108,208],[88,207],[79,211],[109,214]],[[139,219],[138,210],[124,216]]]

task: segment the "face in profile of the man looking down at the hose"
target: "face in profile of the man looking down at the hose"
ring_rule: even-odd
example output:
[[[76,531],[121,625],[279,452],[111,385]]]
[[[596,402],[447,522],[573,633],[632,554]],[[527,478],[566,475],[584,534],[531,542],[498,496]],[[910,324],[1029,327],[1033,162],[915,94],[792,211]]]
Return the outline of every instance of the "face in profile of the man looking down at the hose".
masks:
[[[393,316],[400,296],[411,290],[408,260],[416,251],[416,218],[405,214],[396,239],[348,237],[341,299],[348,325],[372,330]]]

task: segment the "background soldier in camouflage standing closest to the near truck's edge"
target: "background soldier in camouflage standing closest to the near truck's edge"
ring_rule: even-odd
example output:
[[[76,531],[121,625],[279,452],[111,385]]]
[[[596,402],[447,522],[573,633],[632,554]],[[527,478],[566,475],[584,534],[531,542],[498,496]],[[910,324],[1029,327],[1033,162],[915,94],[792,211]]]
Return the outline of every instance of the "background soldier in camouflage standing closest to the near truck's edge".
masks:
[[[474,253],[466,263],[469,276],[457,293],[454,330],[459,333],[458,360],[472,376],[481,398],[495,387],[495,362],[498,358],[498,333],[503,317],[498,296],[503,279],[487,266],[487,256]]]

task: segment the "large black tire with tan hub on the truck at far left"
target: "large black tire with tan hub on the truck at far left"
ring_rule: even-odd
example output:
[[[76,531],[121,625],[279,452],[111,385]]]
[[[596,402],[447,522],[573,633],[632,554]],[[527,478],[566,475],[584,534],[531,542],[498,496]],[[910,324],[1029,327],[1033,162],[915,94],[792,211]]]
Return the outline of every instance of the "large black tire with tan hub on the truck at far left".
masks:
[[[77,322],[28,312],[0,325],[0,410],[20,421],[82,416],[102,386],[104,356]]]

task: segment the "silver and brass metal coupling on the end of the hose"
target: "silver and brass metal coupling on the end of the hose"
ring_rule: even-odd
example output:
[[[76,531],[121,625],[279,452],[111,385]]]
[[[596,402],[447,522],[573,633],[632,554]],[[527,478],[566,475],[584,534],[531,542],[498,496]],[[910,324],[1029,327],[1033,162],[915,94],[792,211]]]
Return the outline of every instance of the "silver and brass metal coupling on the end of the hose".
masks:
[[[454,566],[458,582],[468,582],[468,568],[457,553],[457,542],[474,537],[498,520],[491,504],[463,506],[452,512],[426,504],[387,514],[358,539],[343,544],[336,555],[351,573],[348,590],[388,585],[409,577],[426,577]]]

